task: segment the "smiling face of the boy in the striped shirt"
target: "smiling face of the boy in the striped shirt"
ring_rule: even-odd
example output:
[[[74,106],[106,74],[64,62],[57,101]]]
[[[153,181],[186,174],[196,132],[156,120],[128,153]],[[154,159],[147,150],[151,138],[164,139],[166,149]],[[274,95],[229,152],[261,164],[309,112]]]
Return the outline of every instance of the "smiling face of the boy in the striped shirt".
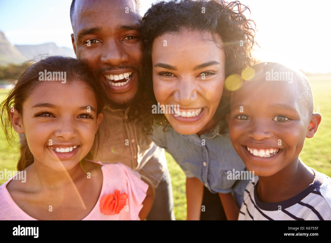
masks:
[[[311,114],[300,102],[295,85],[265,81],[262,76],[245,81],[233,94],[228,117],[231,142],[256,175],[279,172],[303,148]]]

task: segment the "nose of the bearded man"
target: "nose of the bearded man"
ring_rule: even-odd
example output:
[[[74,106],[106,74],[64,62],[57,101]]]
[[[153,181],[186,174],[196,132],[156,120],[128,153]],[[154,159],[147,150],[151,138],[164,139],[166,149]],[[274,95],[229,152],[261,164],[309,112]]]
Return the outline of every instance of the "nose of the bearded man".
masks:
[[[129,54],[124,50],[122,43],[116,40],[109,40],[103,44],[101,62],[118,66],[120,63],[129,60]]]

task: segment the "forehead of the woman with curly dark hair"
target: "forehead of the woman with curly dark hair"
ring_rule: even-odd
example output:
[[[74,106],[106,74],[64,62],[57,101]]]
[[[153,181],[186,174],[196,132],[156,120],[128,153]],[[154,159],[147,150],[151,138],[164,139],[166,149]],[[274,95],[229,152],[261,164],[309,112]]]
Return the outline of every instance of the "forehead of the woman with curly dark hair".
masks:
[[[157,37],[153,42],[152,60],[166,63],[178,62],[181,65],[190,65],[201,61],[224,59],[222,41],[216,35],[218,46],[210,33],[201,36],[197,31],[183,31],[181,33],[167,33]],[[166,43],[166,46],[165,46]],[[185,60],[185,61],[184,61]]]

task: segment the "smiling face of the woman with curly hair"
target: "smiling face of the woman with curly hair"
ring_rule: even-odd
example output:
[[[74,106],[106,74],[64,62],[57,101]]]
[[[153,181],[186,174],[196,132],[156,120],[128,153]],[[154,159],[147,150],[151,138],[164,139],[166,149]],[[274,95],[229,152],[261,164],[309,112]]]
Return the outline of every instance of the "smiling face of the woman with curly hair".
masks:
[[[219,46],[221,38],[216,35]],[[165,116],[181,134],[208,129],[222,96],[225,54],[212,35],[183,31],[164,34],[152,49],[153,89],[161,105],[174,105]],[[162,107],[162,106],[161,106]],[[177,109],[176,109],[177,108]]]

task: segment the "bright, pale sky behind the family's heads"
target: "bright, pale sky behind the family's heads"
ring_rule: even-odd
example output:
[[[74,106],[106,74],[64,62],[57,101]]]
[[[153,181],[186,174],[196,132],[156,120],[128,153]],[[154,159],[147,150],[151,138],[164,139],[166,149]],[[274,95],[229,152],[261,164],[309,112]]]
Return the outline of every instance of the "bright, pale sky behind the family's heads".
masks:
[[[155,0],[140,0],[144,13]],[[331,1],[242,0],[251,9],[261,61],[276,61],[310,72],[331,71]],[[72,48],[71,0],[0,0],[0,30],[11,43],[55,42]]]

